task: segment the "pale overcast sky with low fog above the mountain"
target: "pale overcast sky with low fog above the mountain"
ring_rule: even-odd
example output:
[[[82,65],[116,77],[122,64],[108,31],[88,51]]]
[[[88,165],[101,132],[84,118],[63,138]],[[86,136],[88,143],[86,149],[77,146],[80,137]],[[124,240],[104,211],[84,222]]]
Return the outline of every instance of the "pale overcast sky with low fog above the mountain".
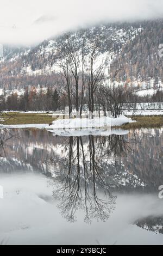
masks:
[[[162,0],[0,0],[0,42],[35,44],[104,21],[163,18]]]

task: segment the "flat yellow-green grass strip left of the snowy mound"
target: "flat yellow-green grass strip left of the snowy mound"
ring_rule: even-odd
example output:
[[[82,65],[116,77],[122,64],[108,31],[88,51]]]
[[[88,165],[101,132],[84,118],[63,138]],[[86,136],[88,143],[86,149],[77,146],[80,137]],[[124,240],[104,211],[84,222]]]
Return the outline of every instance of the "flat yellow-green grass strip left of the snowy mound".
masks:
[[[48,114],[26,114],[26,113],[6,113],[2,114],[5,125],[17,124],[50,124],[55,118]]]

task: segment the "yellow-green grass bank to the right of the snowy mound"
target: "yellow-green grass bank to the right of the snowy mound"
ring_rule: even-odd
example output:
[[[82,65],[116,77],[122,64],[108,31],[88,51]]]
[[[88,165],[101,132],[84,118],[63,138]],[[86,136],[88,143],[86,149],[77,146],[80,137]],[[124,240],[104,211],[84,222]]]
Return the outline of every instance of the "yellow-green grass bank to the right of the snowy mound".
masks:
[[[122,129],[139,129],[139,128],[160,128],[163,127],[163,115],[154,116],[136,116],[133,118],[136,123],[122,125]]]

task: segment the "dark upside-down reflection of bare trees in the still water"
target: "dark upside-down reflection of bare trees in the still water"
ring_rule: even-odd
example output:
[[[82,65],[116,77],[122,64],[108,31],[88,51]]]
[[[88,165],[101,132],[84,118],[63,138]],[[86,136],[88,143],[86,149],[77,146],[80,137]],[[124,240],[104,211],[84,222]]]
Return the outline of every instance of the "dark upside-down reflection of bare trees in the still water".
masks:
[[[64,176],[55,184],[53,196],[68,221],[76,221],[76,211],[82,209],[86,223],[93,218],[105,222],[115,209],[116,196],[111,192],[109,170],[102,162],[107,164],[111,155],[124,156],[129,150],[128,141],[117,135],[89,136],[88,144],[83,141],[84,137],[70,137],[65,142],[68,153],[63,163]]]

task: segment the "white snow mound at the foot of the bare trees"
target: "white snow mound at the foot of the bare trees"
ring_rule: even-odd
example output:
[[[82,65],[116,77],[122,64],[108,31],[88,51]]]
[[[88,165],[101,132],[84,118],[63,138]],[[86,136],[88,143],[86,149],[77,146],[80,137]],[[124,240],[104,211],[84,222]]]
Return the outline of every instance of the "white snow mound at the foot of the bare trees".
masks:
[[[111,126],[120,126],[126,123],[133,123],[135,121],[131,120],[130,118],[124,117],[122,115],[118,118],[110,118],[110,117],[101,117],[101,118],[94,118],[94,119],[87,119],[87,118],[74,118],[74,119],[59,119],[53,121],[53,124],[49,126],[49,129],[92,129],[93,128],[100,128],[100,127],[111,127]]]

